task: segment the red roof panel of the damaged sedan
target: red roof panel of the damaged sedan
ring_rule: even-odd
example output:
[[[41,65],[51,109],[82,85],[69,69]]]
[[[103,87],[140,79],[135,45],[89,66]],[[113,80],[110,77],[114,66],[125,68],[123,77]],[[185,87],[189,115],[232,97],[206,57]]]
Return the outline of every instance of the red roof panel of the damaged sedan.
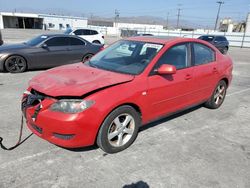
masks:
[[[200,40],[194,39],[194,38],[168,37],[168,36],[135,36],[135,37],[129,37],[126,40],[158,43],[158,44],[166,44],[166,43],[169,43],[172,41],[175,41],[175,42],[195,42],[195,41],[200,42]]]

